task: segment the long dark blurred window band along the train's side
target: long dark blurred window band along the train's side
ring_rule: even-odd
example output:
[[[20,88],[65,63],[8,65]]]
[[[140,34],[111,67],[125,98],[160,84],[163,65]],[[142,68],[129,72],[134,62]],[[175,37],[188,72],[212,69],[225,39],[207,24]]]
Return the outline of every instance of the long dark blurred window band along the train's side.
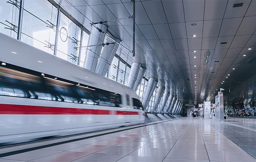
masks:
[[[0,66],[0,95],[122,107],[120,94],[53,78],[14,65]]]

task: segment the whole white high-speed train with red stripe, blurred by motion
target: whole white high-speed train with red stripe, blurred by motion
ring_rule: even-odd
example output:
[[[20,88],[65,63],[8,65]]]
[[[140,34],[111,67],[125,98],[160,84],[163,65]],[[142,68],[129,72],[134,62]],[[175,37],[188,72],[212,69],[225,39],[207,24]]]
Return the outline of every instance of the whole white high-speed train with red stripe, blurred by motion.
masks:
[[[137,94],[0,33],[0,145],[144,123]]]

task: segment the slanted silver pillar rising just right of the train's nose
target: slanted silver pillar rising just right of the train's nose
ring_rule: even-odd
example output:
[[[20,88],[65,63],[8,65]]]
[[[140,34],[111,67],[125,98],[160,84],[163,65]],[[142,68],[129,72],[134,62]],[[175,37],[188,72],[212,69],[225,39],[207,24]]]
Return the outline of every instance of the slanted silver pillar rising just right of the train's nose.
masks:
[[[144,97],[142,99],[142,105],[143,107],[146,109],[146,107],[148,106],[148,101],[150,100],[155,88],[156,88],[156,84],[158,83],[158,80],[156,80],[155,78],[149,78],[148,79],[148,84],[145,90],[145,94]]]

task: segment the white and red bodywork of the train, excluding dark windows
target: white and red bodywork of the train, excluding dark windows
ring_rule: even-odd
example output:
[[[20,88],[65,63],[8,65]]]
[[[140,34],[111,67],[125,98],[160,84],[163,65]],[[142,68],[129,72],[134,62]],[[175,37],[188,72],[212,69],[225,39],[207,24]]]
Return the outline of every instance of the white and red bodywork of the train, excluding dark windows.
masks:
[[[120,94],[122,99],[122,107],[110,107],[0,95],[0,145],[144,123],[144,111],[132,107],[132,98],[138,100],[139,98],[127,86],[1,33],[0,49],[0,62]],[[127,95],[130,105],[126,102]],[[71,111],[73,109],[74,111],[90,109],[107,113],[100,113],[100,115],[97,113],[61,114],[58,112],[56,114],[6,113],[4,106],[9,106],[12,109],[15,105],[24,106],[26,110],[34,107],[50,107],[49,109],[57,107],[57,111],[58,108],[67,108]]]

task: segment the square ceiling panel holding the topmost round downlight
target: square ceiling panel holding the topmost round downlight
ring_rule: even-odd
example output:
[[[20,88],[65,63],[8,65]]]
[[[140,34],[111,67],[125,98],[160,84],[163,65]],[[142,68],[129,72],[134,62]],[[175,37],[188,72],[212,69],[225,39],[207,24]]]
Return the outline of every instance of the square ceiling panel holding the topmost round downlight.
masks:
[[[192,23],[196,23],[196,25],[191,25]],[[193,21],[186,23],[187,35],[188,38],[194,38],[192,35],[196,35],[196,38],[202,37],[202,29],[203,29],[203,21]]]

